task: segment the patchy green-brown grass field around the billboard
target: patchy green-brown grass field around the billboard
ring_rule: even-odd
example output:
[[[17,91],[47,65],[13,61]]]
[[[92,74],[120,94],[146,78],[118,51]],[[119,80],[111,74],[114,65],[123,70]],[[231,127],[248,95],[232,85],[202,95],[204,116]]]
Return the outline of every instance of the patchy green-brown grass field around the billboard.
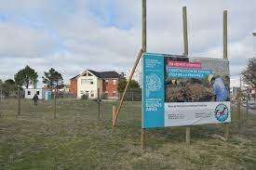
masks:
[[[256,116],[249,115],[238,132],[236,110],[225,142],[221,124],[192,127],[192,142],[184,141],[184,127],[146,131],[140,148],[141,103],[126,103],[112,134],[112,105],[63,99],[57,119],[52,103],[1,103],[0,169],[256,169]],[[243,116],[244,117],[244,116]]]

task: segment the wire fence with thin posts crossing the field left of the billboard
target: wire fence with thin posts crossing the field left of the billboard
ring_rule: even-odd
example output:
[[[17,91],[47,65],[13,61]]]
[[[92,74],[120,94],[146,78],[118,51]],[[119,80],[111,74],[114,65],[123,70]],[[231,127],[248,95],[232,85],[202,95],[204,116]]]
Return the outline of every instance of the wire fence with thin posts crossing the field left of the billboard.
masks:
[[[34,99],[34,95],[38,97]],[[31,118],[64,118],[69,114],[90,116],[91,119],[111,119],[113,106],[118,107],[123,93],[103,93],[96,96],[83,94],[79,97],[72,93],[54,90],[8,90],[0,91],[0,116],[29,116]],[[55,99],[56,98],[56,99]],[[125,98],[124,108],[141,114],[141,90],[129,89]],[[138,109],[139,108],[139,109]],[[46,114],[47,113],[47,114]]]

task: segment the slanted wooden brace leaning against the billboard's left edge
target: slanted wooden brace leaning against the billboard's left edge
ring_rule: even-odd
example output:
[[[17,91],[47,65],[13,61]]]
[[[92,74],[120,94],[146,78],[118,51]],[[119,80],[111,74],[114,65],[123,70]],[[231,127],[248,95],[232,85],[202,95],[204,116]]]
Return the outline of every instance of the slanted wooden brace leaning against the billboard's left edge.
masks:
[[[143,51],[142,51],[142,49],[141,49],[141,51],[140,51],[140,53],[139,53],[139,55],[138,55],[138,57],[137,57],[137,59],[136,59],[134,65],[133,65],[133,69],[132,69],[132,71],[131,71],[131,73],[130,73],[130,75],[129,75],[129,78],[128,78],[128,83],[127,83],[127,85],[126,85],[125,91],[124,91],[124,93],[123,93],[123,95],[122,95],[121,101],[120,101],[119,106],[118,106],[118,109],[117,109],[117,111],[116,111],[114,126],[116,125],[116,121],[117,121],[117,119],[118,119],[119,112],[121,111],[121,108],[122,108],[124,99],[125,99],[125,97],[126,97],[126,94],[127,94],[127,91],[128,91],[128,85],[129,85],[129,83],[130,83],[130,81],[131,81],[131,78],[132,78],[132,76],[133,76],[133,74],[134,74],[136,68],[137,68],[137,65],[138,65],[138,63],[139,63],[139,61],[140,61],[140,59],[141,59],[142,54],[143,54]]]

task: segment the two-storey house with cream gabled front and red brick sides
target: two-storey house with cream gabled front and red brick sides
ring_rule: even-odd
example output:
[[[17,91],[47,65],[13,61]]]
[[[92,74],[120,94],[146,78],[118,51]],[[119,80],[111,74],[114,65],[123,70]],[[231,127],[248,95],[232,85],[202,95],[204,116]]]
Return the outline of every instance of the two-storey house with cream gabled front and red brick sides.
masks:
[[[100,96],[104,98],[118,98],[117,86],[119,84],[120,74],[117,72],[96,72],[87,70],[70,79],[71,92],[76,91],[76,97],[83,95],[88,98],[98,98],[98,89]]]

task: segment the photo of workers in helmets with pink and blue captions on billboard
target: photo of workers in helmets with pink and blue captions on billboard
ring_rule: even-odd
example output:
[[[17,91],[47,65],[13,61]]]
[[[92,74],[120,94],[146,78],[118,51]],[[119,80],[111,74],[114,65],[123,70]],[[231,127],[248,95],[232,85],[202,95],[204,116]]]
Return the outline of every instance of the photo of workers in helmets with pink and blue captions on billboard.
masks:
[[[165,102],[229,101],[227,60],[165,58]]]

